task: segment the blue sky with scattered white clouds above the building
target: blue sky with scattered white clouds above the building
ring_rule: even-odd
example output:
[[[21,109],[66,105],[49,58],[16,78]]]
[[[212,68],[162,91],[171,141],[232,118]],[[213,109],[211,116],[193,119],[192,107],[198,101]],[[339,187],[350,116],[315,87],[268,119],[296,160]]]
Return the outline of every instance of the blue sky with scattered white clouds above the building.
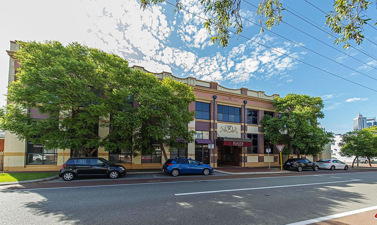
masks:
[[[167,1],[175,3],[174,0]],[[260,2],[246,1],[253,5]],[[308,1],[325,12],[332,9],[332,1],[329,0]],[[256,8],[248,3],[241,1],[241,15],[258,23],[259,18],[255,18]],[[284,8],[294,14],[305,15],[314,23],[325,25],[325,14],[307,2],[282,0],[282,3]],[[182,0],[182,5],[187,11],[208,17],[200,0]],[[368,10],[367,16],[375,21],[374,7],[369,7]],[[376,95],[375,91],[305,64],[375,89],[376,80],[354,70],[377,78],[377,70],[370,67],[377,67],[377,60],[362,53],[366,51],[377,58],[377,45],[374,44],[377,43],[377,29],[365,26],[364,36],[374,43],[365,40],[358,46],[360,51],[352,48],[345,50],[342,49],[342,44],[333,44],[334,38],[329,38],[320,29],[288,11],[282,13],[284,23],[273,27],[271,31],[299,45],[266,30],[260,34],[259,26],[243,20],[242,35],[253,41],[232,36],[228,46],[222,48],[210,42],[211,35],[204,29],[201,18],[184,11],[175,13],[174,7],[166,3],[150,6],[143,11],[136,0],[19,0],[17,4],[13,1],[0,1],[0,105],[6,104],[9,70],[6,50],[9,50],[10,41],[58,40],[64,44],[77,41],[120,55],[130,66],[143,66],[150,72],[172,72],[176,77],[190,76],[216,81],[224,87],[245,87],[264,91],[267,95],[276,93],[284,97],[288,93],[299,93],[321,96],[325,103],[325,118],[319,122],[327,131],[334,133],[352,130],[352,118],[359,111],[363,116],[377,116],[373,97]]]

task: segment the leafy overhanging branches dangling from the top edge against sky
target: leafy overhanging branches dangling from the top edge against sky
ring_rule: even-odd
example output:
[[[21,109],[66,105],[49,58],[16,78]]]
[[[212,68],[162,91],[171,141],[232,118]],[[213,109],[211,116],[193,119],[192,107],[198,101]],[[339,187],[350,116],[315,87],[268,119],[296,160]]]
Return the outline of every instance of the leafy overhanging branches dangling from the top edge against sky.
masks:
[[[140,0],[141,8],[145,9],[148,5],[166,2],[165,0]],[[181,0],[176,0],[175,11],[182,9]],[[364,36],[363,26],[367,24],[369,18],[363,15],[368,9],[368,5],[377,0],[334,0],[334,9],[326,15],[326,26],[331,29],[332,33],[339,34],[334,43],[345,43],[345,48],[349,47],[348,41],[354,40],[361,44]],[[201,0],[204,12],[208,18],[204,22],[205,28],[211,34],[214,31],[210,41],[226,47],[231,34],[240,35],[242,33],[242,17],[240,15],[241,0]],[[280,0],[261,0],[256,11],[256,17],[259,17],[261,32],[264,31],[262,21],[267,29],[282,22],[284,10]],[[374,24],[374,25],[377,25]],[[371,25],[372,26],[372,25]]]

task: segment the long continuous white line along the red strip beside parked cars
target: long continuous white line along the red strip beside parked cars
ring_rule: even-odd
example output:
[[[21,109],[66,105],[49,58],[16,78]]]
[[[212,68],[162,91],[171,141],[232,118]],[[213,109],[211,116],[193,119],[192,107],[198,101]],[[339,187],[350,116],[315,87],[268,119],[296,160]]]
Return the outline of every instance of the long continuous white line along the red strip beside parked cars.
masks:
[[[354,172],[354,173],[377,173],[377,171],[368,171],[368,172]],[[341,173],[341,174],[354,174],[354,173]],[[332,174],[323,174],[323,175],[334,175],[339,173]],[[155,183],[137,183],[137,184],[110,184],[110,185],[92,185],[92,186],[77,186],[77,187],[55,187],[55,188],[29,188],[29,189],[12,189],[12,190],[1,190],[4,191],[29,191],[29,190],[47,190],[47,189],[63,189],[63,188],[83,188],[83,187],[111,187],[111,186],[126,186],[126,185],[141,185],[141,184],[169,184],[169,183],[183,183],[183,182],[201,182],[201,181],[231,181],[231,180],[250,180],[250,179],[267,179],[267,178],[296,178],[303,176],[318,176],[318,175],[296,175],[296,176],[272,176],[272,177],[262,177],[262,178],[232,178],[232,179],[215,179],[215,180],[198,180],[198,181],[169,181],[169,182],[155,182]],[[150,179],[150,178],[148,178]],[[124,179],[126,180],[126,179]],[[352,180],[352,179],[351,179]],[[357,179],[355,179],[357,180]],[[48,184],[53,184],[48,183]]]

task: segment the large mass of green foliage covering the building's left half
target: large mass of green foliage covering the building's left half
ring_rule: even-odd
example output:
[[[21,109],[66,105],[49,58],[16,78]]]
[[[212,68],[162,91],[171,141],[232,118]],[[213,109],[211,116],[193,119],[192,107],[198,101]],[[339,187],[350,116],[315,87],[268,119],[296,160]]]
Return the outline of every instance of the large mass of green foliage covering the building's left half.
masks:
[[[117,55],[78,43],[19,44],[21,68],[9,84],[11,104],[0,111],[0,129],[46,148],[81,148],[89,156],[99,147],[146,154],[153,137],[173,146],[180,145],[177,138],[193,141],[195,132],[186,124],[193,120],[188,105],[195,95],[188,85],[159,81],[131,70]],[[31,118],[30,108],[46,118]],[[109,134],[99,135],[98,127]]]

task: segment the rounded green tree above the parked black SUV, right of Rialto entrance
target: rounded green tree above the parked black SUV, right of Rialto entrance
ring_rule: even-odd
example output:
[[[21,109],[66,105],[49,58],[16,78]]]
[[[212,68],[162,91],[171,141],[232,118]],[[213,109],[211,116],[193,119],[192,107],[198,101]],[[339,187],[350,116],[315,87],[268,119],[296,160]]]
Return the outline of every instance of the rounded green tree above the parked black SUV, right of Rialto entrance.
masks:
[[[262,132],[273,144],[284,141],[287,145],[283,150],[285,155],[293,150],[297,158],[300,155],[317,156],[333,141],[333,133],[323,132],[318,127],[317,120],[324,118],[320,97],[290,93],[284,98],[275,98],[273,106],[280,115],[273,118],[265,115],[261,121]]]

